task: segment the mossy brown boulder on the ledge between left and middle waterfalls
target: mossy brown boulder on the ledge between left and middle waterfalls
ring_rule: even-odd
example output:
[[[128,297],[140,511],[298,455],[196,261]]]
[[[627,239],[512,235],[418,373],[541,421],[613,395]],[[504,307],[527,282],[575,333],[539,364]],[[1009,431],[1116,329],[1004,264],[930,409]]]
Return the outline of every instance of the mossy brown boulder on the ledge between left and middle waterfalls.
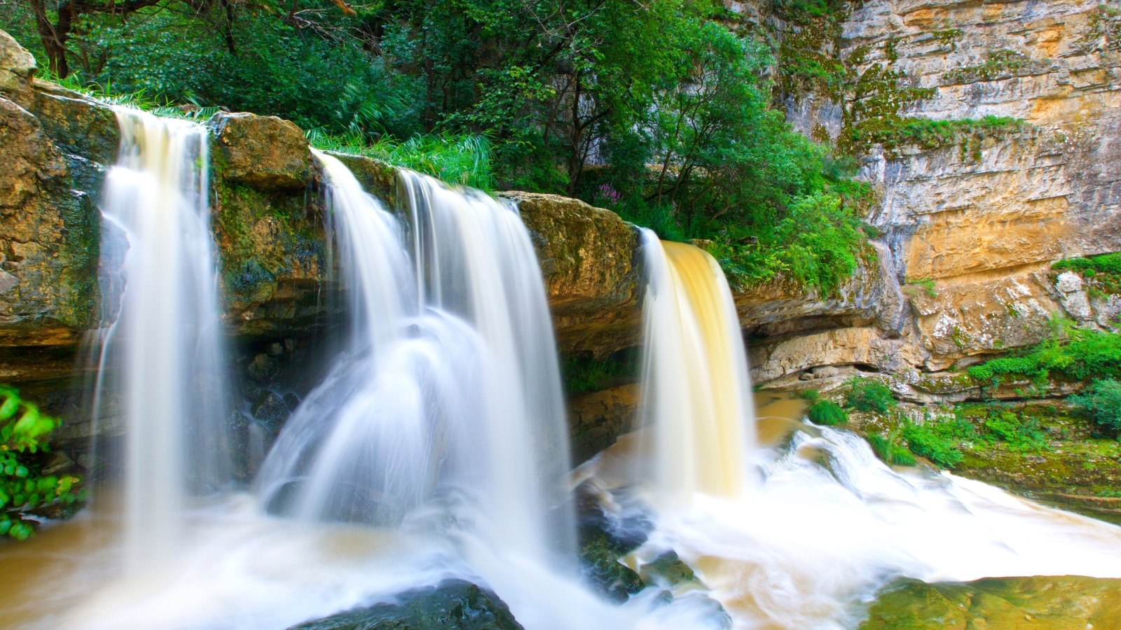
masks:
[[[302,188],[312,177],[304,132],[275,115],[214,114],[214,159],[221,176],[259,189]]]

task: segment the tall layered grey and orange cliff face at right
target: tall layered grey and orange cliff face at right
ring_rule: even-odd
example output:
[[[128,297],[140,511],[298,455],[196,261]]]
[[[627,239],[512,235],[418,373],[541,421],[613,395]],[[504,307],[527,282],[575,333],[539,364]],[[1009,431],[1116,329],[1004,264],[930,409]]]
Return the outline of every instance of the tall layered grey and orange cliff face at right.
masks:
[[[874,0],[853,10],[837,57],[863,55],[853,73],[891,65],[908,85],[932,91],[904,115],[1023,123],[933,148],[873,148],[862,177],[882,203],[870,221],[884,232],[888,256],[880,259],[893,263],[893,278],[883,281],[904,285],[909,313],[901,326],[879,321],[861,333],[765,340],[754,353],[758,379],[846,358],[881,371],[960,368],[1038,343],[1053,314],[1113,328],[1117,297],[1087,291],[1081,278],[1056,274],[1050,263],[1121,249],[1119,25],[1117,11],[1096,1]],[[791,120],[807,133],[823,124],[836,138],[841,112],[836,103],[806,99],[791,108]],[[754,304],[748,299],[748,309]],[[893,305],[880,302],[872,311]],[[837,307],[823,304],[818,312]],[[791,363],[803,351],[823,359]]]

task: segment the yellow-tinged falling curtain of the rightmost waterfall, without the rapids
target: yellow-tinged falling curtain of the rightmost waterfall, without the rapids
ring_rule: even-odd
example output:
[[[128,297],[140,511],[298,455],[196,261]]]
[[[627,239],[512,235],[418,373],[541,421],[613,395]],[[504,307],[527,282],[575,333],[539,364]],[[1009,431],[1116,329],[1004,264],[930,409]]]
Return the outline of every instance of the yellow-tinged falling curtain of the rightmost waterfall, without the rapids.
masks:
[[[740,323],[720,265],[704,250],[642,230],[647,289],[640,465],[664,504],[735,497],[754,443]]]

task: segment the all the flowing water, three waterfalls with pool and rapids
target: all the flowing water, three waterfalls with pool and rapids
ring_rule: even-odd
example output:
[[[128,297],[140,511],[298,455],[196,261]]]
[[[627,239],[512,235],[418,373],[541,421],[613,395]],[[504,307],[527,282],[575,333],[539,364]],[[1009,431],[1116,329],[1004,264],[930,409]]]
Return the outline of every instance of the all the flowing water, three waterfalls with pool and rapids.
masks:
[[[13,627],[282,630],[462,577],[529,630],[845,628],[899,575],[1121,575],[1121,528],[891,470],[858,436],[803,423],[796,400],[759,395],[757,419],[719,266],[651,232],[638,429],[569,474],[517,210],[402,172],[389,212],[319,152],[345,351],[238,490],[205,133],[119,118],[96,399],[126,419],[126,483],[0,548]],[[655,575],[621,605],[594,594],[573,559],[573,488],[611,527],[641,529],[628,565],[673,550],[697,580]]]

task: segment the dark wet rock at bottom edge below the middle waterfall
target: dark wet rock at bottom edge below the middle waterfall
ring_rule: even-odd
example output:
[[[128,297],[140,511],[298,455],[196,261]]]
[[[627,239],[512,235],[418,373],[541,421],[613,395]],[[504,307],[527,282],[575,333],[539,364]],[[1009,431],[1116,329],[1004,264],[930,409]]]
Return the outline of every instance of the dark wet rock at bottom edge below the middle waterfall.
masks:
[[[407,591],[396,600],[290,630],[522,630],[493,591],[463,580]]]

